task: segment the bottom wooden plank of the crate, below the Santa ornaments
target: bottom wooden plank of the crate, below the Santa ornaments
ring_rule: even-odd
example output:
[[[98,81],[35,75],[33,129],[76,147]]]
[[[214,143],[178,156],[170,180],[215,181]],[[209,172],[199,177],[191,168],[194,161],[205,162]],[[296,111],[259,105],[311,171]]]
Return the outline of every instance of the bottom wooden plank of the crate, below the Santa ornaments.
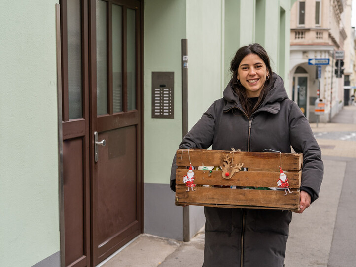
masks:
[[[186,192],[187,187],[176,186],[176,205],[202,205],[232,208],[269,208],[298,210],[299,192],[285,196],[285,191],[249,190],[216,187],[195,187]]]

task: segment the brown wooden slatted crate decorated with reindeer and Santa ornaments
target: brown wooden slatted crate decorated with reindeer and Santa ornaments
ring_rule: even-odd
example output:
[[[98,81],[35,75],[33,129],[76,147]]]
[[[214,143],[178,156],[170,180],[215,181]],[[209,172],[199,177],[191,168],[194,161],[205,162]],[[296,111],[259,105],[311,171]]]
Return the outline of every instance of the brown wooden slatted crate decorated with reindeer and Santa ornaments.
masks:
[[[226,157],[231,165],[242,164],[247,171],[235,172],[230,179],[223,178],[223,170],[197,170],[198,166],[221,166]],[[189,159],[190,158],[190,159]],[[278,187],[282,169],[289,180],[289,189],[259,190],[246,187]],[[194,166],[195,191],[186,191],[183,183],[189,163]],[[231,152],[221,150],[179,149],[177,150],[176,205],[198,205],[227,208],[259,208],[299,210],[299,190],[301,181],[302,154],[270,152]],[[209,186],[209,187],[208,187]],[[230,188],[237,186],[237,188]]]

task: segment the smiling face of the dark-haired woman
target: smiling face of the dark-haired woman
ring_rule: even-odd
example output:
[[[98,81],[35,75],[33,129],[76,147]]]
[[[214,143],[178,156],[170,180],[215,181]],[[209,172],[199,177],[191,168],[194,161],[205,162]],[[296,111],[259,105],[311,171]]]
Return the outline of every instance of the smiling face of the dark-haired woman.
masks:
[[[237,70],[237,79],[246,89],[247,97],[258,97],[269,75],[266,64],[256,54],[249,54],[242,59]]]

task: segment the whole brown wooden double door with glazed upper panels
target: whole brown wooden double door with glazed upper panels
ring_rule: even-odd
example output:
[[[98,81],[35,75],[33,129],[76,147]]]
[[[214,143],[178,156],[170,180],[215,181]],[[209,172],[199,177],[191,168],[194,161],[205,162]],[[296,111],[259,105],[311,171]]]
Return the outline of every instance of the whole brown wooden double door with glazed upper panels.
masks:
[[[142,2],[60,4],[65,265],[89,267],[143,229]]]

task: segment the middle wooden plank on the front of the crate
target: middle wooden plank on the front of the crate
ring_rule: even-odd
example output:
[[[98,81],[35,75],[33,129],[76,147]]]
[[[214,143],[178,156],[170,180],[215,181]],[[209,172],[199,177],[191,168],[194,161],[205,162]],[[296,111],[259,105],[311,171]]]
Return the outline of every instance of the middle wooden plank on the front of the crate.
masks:
[[[176,183],[184,184],[183,177],[187,169],[176,170]],[[222,171],[194,170],[194,184],[196,185],[236,185],[236,186],[258,186],[277,187],[280,172],[237,172],[229,180],[222,178]],[[302,172],[285,173],[289,181],[289,188],[299,188]],[[185,185],[185,184],[184,184]]]

